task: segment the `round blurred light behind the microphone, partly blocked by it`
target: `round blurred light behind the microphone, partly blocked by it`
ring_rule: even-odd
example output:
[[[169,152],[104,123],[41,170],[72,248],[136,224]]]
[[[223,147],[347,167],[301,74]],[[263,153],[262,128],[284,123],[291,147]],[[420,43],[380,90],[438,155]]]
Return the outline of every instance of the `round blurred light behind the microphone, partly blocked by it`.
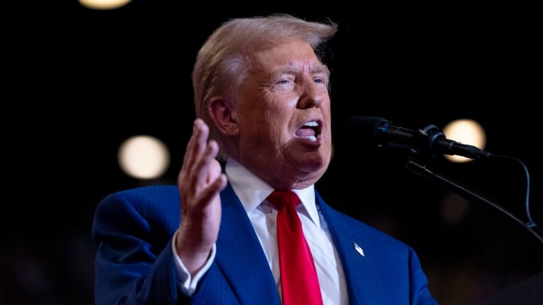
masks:
[[[473,119],[456,119],[443,128],[443,133],[445,133],[448,140],[455,140],[462,144],[473,145],[480,149],[485,149],[485,146],[487,145],[485,129]],[[451,162],[457,163],[473,160],[463,156],[444,156]]]

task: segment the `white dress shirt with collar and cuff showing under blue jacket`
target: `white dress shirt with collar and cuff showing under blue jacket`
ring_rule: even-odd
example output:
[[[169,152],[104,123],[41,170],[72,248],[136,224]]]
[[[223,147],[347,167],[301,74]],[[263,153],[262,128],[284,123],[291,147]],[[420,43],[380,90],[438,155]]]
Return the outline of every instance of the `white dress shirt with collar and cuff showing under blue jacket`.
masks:
[[[281,294],[281,282],[279,277],[279,256],[277,249],[276,233],[276,208],[267,201],[267,197],[272,194],[274,188],[266,181],[260,179],[245,167],[237,163],[233,158],[228,158],[225,168],[228,181],[232,185],[234,192],[239,200],[242,201],[244,209],[253,224],[260,245],[266,255],[269,267],[274,275],[275,283]],[[322,217],[319,208],[315,204],[314,186],[303,190],[292,190],[301,200],[297,206],[297,212],[301,220],[301,226],[304,229],[304,236],[311,249],[311,254],[315,260],[317,276],[321,287],[322,299],[324,304],[348,304],[347,286],[341,267],[339,256],[333,245],[328,226]],[[177,232],[176,232],[177,233]],[[175,236],[174,236],[175,241]],[[177,270],[184,292],[191,295],[198,280],[209,269],[216,248],[213,247],[210,259],[204,267],[191,279],[189,272],[183,266],[182,261],[175,252],[175,245],[172,247],[173,255],[176,258]]]

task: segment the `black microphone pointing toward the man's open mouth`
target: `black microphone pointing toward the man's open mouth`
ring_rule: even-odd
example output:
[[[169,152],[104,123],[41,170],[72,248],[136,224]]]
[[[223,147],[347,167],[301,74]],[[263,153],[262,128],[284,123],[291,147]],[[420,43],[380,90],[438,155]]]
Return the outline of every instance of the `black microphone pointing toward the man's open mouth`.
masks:
[[[382,117],[351,117],[347,123],[349,129],[359,133],[363,138],[369,138],[380,148],[400,147],[425,155],[458,155],[472,159],[491,156],[489,152],[473,145],[448,140],[445,134],[432,124],[413,131],[394,126]]]

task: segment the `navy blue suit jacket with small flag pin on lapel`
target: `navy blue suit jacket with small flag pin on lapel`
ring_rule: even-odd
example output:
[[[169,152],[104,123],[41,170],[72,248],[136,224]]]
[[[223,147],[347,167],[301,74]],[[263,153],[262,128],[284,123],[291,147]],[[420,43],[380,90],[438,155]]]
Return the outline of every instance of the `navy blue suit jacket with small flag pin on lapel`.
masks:
[[[316,191],[315,196],[341,258],[349,304],[436,304],[414,249],[334,210]],[[95,304],[281,304],[260,242],[230,185],[221,201],[217,256],[187,297],[171,253],[180,222],[178,188],[146,186],[104,198],[92,232]]]

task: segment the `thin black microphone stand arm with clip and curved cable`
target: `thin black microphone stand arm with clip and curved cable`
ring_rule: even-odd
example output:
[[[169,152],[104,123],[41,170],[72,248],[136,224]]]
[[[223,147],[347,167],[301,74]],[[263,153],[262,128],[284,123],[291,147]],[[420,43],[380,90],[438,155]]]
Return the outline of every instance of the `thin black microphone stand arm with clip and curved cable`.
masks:
[[[423,176],[425,179],[429,179],[431,181],[437,181],[441,185],[444,185],[453,191],[457,192],[459,195],[462,195],[464,197],[468,197],[471,199],[476,199],[479,201],[484,202],[485,204],[489,204],[490,206],[493,206],[494,208],[497,208],[498,211],[501,211],[505,213],[505,215],[511,217],[514,221],[521,224],[521,226],[524,227],[524,229],[527,229],[532,233],[535,238],[540,240],[540,242],[543,242],[542,236],[540,236],[539,233],[537,233],[536,229],[539,229],[539,226],[531,219],[530,217],[530,209],[528,204],[529,196],[526,196],[526,214],[528,217],[528,221],[524,222],[519,217],[515,216],[513,213],[510,213],[510,211],[507,211],[505,208],[500,206],[499,204],[496,204],[494,201],[491,201],[490,199],[487,199],[486,197],[478,194],[477,192],[467,188],[466,186],[463,186],[460,183],[457,183],[453,179],[448,178],[447,176],[444,176],[442,174],[439,174],[437,172],[434,172],[430,170],[427,165],[423,164],[424,160],[427,160],[432,155],[432,145],[434,144],[434,141],[438,138],[443,138],[445,135],[434,125],[429,125],[425,127],[425,129],[419,130],[418,133],[414,134],[414,145],[411,147],[411,156],[407,159],[406,167],[407,169],[411,170],[411,172],[414,172],[415,174],[418,174],[420,176]],[[495,155],[495,154],[488,154],[488,158],[512,158],[509,156],[501,156],[501,155]],[[528,192],[530,190],[530,179],[528,170],[526,169],[526,166],[524,166],[524,163],[522,163],[517,158],[512,158],[516,160],[517,162],[521,163],[523,165],[524,170],[526,172],[526,175],[528,176]]]

